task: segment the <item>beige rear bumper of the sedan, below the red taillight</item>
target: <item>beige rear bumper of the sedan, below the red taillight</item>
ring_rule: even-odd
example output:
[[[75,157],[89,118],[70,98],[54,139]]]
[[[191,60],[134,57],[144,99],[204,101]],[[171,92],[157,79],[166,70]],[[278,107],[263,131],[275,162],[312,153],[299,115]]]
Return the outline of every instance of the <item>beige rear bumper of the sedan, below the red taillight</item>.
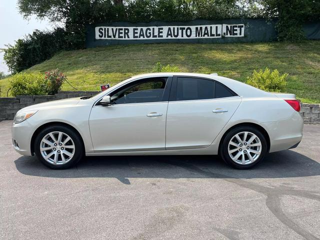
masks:
[[[296,147],[302,139],[303,119],[298,112],[282,121],[263,122],[270,138],[269,152]]]

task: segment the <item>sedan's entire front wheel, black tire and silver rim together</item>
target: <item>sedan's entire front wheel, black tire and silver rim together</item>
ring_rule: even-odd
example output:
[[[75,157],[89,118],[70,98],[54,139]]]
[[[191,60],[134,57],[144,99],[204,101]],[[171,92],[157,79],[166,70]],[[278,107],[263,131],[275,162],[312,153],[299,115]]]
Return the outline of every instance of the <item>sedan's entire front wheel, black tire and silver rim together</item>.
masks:
[[[52,169],[65,169],[75,165],[83,156],[81,137],[62,125],[41,130],[34,141],[37,158]]]

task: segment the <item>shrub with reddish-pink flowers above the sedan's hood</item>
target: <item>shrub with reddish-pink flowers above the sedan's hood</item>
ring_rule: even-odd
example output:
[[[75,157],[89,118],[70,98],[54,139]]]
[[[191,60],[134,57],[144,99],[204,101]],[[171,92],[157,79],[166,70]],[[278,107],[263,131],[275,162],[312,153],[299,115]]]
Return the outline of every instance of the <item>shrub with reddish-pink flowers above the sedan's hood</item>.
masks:
[[[47,94],[53,95],[61,89],[63,81],[66,80],[66,76],[56,68],[46,71],[44,79],[46,81]]]

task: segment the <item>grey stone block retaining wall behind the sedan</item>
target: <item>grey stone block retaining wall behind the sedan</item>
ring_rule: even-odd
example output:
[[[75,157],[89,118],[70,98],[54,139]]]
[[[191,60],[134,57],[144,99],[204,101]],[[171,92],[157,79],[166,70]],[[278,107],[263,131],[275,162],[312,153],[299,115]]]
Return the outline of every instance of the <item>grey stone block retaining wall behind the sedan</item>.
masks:
[[[59,91],[55,95],[0,97],[0,120],[12,120],[15,113],[26,106],[40,102],[94,95],[97,91]],[[320,124],[320,104],[301,104],[304,123]]]

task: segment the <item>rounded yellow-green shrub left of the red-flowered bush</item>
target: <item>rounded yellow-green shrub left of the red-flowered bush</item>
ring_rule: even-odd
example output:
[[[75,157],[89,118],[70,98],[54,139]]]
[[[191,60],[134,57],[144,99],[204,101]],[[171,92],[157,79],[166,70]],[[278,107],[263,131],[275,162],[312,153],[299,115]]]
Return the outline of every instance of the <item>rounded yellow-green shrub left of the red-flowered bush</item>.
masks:
[[[13,96],[46,94],[46,82],[40,73],[15,74],[10,80],[9,87]]]

